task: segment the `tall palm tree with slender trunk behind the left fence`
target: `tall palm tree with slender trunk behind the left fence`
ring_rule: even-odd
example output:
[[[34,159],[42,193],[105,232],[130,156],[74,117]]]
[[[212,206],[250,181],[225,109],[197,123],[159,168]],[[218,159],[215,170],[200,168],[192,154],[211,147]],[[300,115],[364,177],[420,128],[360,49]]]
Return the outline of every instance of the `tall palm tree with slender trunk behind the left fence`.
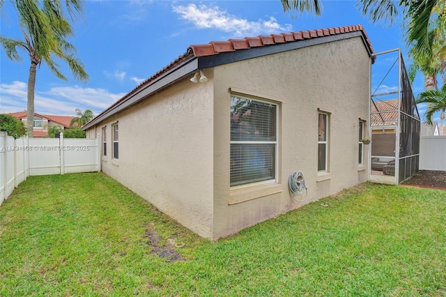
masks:
[[[66,4],[65,9],[62,2]],[[82,12],[82,0],[12,0],[10,3],[17,11],[19,26],[24,39],[8,38],[1,35],[0,43],[10,60],[22,60],[22,56],[17,52],[17,47],[29,54],[31,66],[28,78],[26,121],[28,123],[28,135],[32,137],[37,66],[45,61],[56,77],[67,80],[59,70],[59,64],[54,61],[53,57],[55,56],[57,59],[68,63],[75,79],[84,82],[89,79],[89,75],[84,70],[84,65],[74,56],[75,47],[66,40],[66,38],[74,35],[72,26],[66,20],[66,11],[73,20],[77,13]],[[0,7],[2,4],[3,1],[0,1]]]

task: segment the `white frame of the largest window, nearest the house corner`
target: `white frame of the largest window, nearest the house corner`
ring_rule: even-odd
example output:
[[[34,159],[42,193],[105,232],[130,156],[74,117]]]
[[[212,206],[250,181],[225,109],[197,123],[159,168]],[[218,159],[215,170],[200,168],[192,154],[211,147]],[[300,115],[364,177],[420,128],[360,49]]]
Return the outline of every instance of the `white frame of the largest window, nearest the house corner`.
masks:
[[[238,190],[243,188],[251,188],[258,185],[269,185],[272,183],[278,183],[279,181],[279,109],[280,109],[280,102],[277,102],[275,100],[268,100],[266,98],[259,98],[254,96],[247,96],[245,94],[238,94],[238,93],[231,93],[230,94],[230,100],[233,98],[242,98],[247,100],[252,100],[256,102],[261,102],[269,105],[275,105],[275,141],[258,141],[258,140],[231,140],[231,137],[229,137],[229,155],[231,160],[231,146],[232,144],[274,144],[274,178],[266,179],[264,181],[255,181],[255,182],[248,182],[248,183],[242,183],[239,185],[231,185],[229,184],[230,190]],[[231,134],[231,128],[229,129]],[[231,180],[231,173],[229,173],[229,180]]]

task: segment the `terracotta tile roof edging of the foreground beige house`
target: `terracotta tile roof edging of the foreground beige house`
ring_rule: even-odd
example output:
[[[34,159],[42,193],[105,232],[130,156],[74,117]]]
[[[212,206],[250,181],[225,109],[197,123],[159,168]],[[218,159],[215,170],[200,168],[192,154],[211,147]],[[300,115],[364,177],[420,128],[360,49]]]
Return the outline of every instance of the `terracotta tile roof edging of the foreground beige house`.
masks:
[[[293,43],[293,42],[299,42],[300,40],[339,35],[354,31],[362,32],[365,43],[367,43],[367,47],[369,49],[369,54],[373,54],[374,49],[371,46],[369,37],[367,36],[367,33],[364,31],[364,28],[360,24],[353,26],[339,26],[327,29],[314,29],[307,31],[290,32],[290,33],[271,34],[268,36],[245,37],[243,39],[229,39],[227,41],[211,41],[210,43],[204,45],[190,45],[190,47],[187,48],[187,52],[185,52],[181,56],[178,56],[177,59],[171,62],[168,66],[162,68],[162,70],[155,73],[155,75],[152,75],[144,82],[141,82],[141,84],[139,84],[136,88],[132,89],[132,91],[125,94],[123,98],[114,102],[114,104],[110,105],[107,109],[98,114],[98,116],[95,116],[95,119],[98,119],[100,116],[102,116],[102,114],[107,113],[114,107],[121,105],[121,103],[128,100],[138,91],[141,91],[141,89],[144,89],[146,86],[150,85],[153,81],[155,81],[155,79],[161,77],[169,70],[172,70],[177,66],[180,66],[181,64],[185,63],[186,61],[189,61],[190,59],[193,59],[194,57],[198,58],[201,56],[213,56],[215,54],[220,54],[222,52],[235,52],[238,50],[252,49],[253,47],[264,47],[264,46],[278,45],[282,43]],[[90,122],[95,121],[95,119],[92,119]],[[89,123],[86,123],[86,125],[89,125]]]

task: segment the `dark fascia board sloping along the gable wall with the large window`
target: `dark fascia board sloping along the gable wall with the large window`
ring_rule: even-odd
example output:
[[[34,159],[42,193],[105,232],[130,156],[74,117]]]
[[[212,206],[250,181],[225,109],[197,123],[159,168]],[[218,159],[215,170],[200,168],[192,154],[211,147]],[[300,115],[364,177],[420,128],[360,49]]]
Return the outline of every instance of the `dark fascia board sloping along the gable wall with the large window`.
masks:
[[[348,38],[361,37],[364,46],[367,49],[369,56],[371,57],[371,52],[367,46],[367,41],[364,38],[362,31],[353,31],[348,33],[321,36],[318,38],[310,38],[304,40],[298,40],[292,43],[276,43],[275,45],[266,45],[263,47],[251,47],[248,50],[237,50],[235,52],[220,52],[217,55],[212,56],[200,56],[198,68],[210,68],[215,66],[224,65],[227,63],[233,63],[237,61],[243,61],[247,59],[253,59],[259,56],[266,56],[268,54],[276,54],[279,52],[286,52],[289,50],[297,50],[302,47],[309,47],[312,45],[320,45],[322,43],[330,43],[332,41],[344,40]]]

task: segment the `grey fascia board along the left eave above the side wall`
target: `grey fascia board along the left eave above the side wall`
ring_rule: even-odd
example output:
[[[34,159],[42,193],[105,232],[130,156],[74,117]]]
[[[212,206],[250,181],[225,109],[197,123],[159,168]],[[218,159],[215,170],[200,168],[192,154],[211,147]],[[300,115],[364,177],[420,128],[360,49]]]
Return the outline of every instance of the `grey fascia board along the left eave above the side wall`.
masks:
[[[161,89],[164,89],[166,86],[169,86],[170,84],[173,84],[174,82],[178,81],[179,79],[182,79],[186,75],[190,75],[190,73],[193,73],[198,68],[198,61],[197,58],[194,58],[190,61],[187,61],[184,64],[181,64],[180,66],[173,68],[167,73],[164,73],[160,77],[157,77],[156,79],[151,82],[151,84],[148,84],[141,90],[137,91],[136,93],[132,94],[129,98],[126,100],[123,100],[120,104],[116,105],[109,111],[105,112],[105,114],[102,114],[98,116],[98,118],[93,119],[91,122],[86,123],[82,127],[82,130],[89,129],[93,127],[94,125],[97,125],[101,121],[104,121],[105,119],[109,118],[110,116],[113,116],[114,114],[121,112],[121,110],[130,107],[131,105],[134,105],[135,103],[143,100],[147,96],[150,96],[151,94],[160,91]]]

